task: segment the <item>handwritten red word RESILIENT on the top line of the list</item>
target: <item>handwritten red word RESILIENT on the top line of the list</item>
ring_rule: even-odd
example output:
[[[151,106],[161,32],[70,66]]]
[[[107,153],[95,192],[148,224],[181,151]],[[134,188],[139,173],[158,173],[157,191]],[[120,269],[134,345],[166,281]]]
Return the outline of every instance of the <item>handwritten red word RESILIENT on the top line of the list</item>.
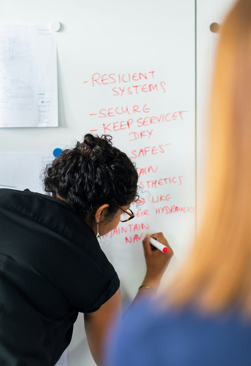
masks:
[[[92,86],[107,85],[114,83],[129,83],[131,81],[154,79],[155,71],[135,72],[134,74],[103,74],[95,72],[92,77]]]

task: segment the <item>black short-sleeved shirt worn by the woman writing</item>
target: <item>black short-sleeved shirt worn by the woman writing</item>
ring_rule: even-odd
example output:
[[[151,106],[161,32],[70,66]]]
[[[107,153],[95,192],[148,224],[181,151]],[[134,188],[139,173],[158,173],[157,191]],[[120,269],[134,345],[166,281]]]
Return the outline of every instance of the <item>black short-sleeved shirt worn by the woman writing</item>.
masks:
[[[98,310],[119,279],[93,229],[67,203],[0,189],[0,365],[53,366],[78,312]]]

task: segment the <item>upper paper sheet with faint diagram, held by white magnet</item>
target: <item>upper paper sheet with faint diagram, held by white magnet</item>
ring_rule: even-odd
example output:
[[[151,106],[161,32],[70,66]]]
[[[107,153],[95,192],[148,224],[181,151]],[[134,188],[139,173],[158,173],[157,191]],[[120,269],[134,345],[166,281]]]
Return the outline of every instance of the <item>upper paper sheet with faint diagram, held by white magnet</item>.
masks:
[[[0,25],[0,127],[56,127],[57,53],[48,25]]]

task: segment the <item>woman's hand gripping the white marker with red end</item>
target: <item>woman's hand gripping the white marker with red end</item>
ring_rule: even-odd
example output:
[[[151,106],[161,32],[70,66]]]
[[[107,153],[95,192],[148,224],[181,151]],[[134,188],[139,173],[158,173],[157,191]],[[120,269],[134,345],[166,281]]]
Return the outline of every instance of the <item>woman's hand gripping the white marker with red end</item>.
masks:
[[[162,253],[160,250],[155,248],[150,244],[150,236],[158,242],[164,244],[168,247],[167,253]],[[161,277],[168,266],[170,259],[173,255],[173,250],[169,246],[167,240],[164,238],[162,232],[158,232],[157,234],[146,235],[143,240],[143,248],[146,258],[146,276],[142,283],[142,285],[147,285],[153,287],[157,290]]]

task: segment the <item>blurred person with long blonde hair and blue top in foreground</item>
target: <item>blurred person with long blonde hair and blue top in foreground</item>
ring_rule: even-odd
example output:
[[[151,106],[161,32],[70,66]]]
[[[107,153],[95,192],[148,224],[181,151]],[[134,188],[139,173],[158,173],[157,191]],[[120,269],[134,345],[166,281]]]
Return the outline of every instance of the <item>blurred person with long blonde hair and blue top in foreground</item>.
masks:
[[[251,365],[251,1],[221,29],[211,98],[205,217],[158,302],[116,330],[109,366]]]

